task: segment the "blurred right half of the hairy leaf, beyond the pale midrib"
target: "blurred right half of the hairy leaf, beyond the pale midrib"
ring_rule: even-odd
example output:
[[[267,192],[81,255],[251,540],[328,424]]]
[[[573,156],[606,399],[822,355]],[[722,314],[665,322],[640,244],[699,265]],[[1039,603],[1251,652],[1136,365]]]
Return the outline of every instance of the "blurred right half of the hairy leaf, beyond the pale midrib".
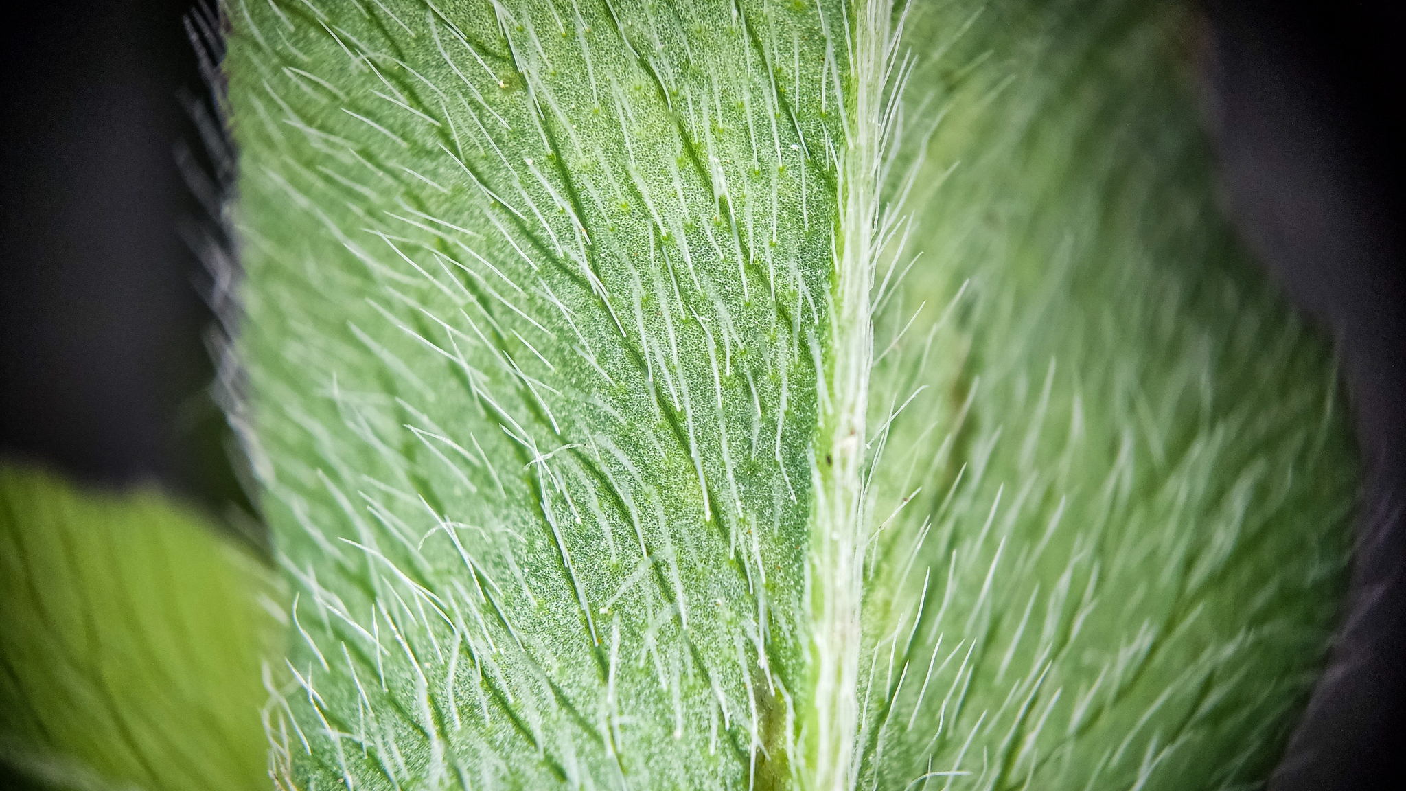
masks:
[[[1258,783],[1336,624],[1355,450],[1330,349],[1213,201],[1188,13],[910,23],[942,42],[911,99],[942,107],[911,239],[942,266],[876,317],[880,345],[924,300],[931,318],[875,377],[876,521],[896,515],[866,611],[866,773]]]

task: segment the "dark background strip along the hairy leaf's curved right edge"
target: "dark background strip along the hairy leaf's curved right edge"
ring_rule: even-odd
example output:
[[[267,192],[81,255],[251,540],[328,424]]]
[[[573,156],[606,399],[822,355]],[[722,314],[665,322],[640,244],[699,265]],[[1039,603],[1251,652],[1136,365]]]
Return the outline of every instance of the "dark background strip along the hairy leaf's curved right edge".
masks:
[[[1337,341],[1364,484],[1331,664],[1270,788],[1384,788],[1406,743],[1406,235],[1399,4],[1208,4],[1227,207]]]

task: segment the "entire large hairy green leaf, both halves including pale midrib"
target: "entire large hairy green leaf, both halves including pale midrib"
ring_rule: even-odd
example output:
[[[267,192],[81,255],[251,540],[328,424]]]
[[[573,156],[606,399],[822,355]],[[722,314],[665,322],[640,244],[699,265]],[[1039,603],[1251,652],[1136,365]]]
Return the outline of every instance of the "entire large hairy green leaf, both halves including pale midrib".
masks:
[[[284,787],[1263,780],[1354,452],[1185,11],[228,15]]]

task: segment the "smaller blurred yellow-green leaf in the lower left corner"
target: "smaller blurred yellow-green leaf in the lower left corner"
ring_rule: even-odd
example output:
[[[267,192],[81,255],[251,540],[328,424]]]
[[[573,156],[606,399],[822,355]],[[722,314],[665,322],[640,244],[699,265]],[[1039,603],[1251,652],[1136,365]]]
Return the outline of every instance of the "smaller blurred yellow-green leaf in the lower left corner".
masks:
[[[0,763],[46,788],[267,787],[278,590],[155,490],[0,463]]]

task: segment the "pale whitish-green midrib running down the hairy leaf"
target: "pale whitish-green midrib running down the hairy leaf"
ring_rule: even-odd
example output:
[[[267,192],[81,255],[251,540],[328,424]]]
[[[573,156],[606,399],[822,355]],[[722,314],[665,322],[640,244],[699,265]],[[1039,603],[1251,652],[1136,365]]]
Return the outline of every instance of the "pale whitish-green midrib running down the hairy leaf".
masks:
[[[806,730],[808,791],[853,787],[859,729],[859,611],[863,602],[865,419],[873,331],[869,291],[877,255],[883,94],[891,4],[853,7],[845,146],[839,155],[831,360],[815,446],[815,526],[810,557],[813,709]]]

